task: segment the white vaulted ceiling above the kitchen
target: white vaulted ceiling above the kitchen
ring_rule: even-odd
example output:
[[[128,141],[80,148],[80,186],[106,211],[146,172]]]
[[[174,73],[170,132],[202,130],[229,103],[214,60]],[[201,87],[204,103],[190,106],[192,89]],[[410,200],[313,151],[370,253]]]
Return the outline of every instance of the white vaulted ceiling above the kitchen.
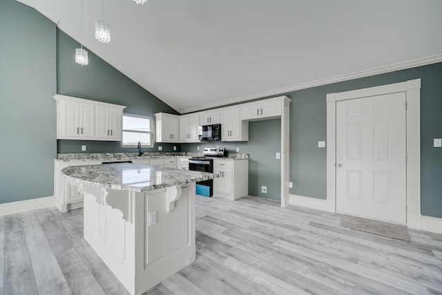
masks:
[[[77,41],[80,0],[17,0]],[[82,42],[180,113],[442,61],[441,0],[84,0]]]

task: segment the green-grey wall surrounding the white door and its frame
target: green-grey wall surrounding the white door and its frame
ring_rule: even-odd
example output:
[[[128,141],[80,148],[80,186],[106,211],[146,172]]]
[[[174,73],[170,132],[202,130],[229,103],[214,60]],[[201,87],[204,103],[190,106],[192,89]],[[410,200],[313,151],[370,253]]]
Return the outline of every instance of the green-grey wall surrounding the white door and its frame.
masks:
[[[433,138],[442,137],[442,63],[374,75],[287,93],[290,105],[290,193],[325,199],[327,196],[326,140],[327,93],[352,91],[410,79],[422,79],[421,88],[421,212],[442,218],[442,149]]]

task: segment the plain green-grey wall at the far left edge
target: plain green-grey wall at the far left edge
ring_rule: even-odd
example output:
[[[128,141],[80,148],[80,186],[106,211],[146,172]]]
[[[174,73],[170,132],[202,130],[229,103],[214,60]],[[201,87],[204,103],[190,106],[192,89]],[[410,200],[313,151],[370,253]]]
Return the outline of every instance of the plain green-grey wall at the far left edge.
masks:
[[[55,24],[0,1],[0,203],[53,196]]]

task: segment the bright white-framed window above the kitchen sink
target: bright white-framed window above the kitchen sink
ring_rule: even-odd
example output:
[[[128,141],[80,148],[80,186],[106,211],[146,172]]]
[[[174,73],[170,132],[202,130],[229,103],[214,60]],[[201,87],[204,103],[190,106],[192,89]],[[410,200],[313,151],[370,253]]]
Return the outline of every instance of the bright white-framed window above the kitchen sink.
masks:
[[[153,147],[152,118],[123,114],[123,147],[137,146],[141,142],[144,147]]]

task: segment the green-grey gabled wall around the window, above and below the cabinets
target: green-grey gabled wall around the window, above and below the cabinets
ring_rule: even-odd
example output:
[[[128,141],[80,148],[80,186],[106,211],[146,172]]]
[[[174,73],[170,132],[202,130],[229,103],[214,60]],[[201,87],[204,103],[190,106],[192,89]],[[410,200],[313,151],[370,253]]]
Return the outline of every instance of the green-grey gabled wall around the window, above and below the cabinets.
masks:
[[[113,68],[103,59],[88,50],[87,66],[75,63],[75,48],[77,41],[57,29],[57,93],[98,102],[108,102],[126,106],[124,113],[148,115],[155,119],[154,113],[164,112],[177,114],[167,104],[144,90],[141,86]],[[86,48],[87,50],[87,48]],[[57,140],[59,153],[112,153],[136,152],[135,148],[123,148],[121,142],[97,142],[90,140]],[[87,151],[81,151],[81,145],[86,145]],[[157,151],[162,146],[163,151],[173,151],[173,146],[180,151],[180,144],[155,144],[151,149]]]

